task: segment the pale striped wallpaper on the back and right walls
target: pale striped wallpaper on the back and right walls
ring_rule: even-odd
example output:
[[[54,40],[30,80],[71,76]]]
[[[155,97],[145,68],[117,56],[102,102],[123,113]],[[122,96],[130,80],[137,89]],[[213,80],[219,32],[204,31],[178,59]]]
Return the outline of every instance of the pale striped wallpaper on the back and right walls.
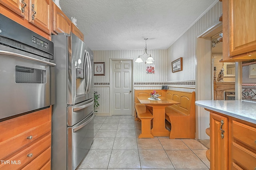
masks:
[[[198,35],[206,31],[216,22],[222,13],[222,3],[216,4],[195,22],[184,34],[176,40],[168,49],[148,49],[148,53],[154,58],[155,74],[146,74],[146,64],[135,63],[138,55],[144,53],[141,50],[109,50],[94,51],[94,62],[105,62],[105,76],[94,76],[94,90],[101,95],[98,114],[110,114],[110,62],[111,59],[133,59],[134,89],[160,89],[162,83],[168,83],[168,88],[179,91],[195,91],[196,77],[196,39]],[[175,59],[183,57],[183,70],[172,73],[171,63]],[[143,85],[143,83],[155,83]],[[138,84],[136,84],[138,83]],[[104,103],[104,105],[102,105]]]

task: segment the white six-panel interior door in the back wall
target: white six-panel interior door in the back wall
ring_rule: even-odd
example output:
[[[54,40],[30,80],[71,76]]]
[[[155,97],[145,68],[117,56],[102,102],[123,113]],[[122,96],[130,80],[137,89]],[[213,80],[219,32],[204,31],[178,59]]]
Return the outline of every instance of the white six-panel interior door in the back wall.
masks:
[[[112,60],[112,115],[132,115],[132,60]]]

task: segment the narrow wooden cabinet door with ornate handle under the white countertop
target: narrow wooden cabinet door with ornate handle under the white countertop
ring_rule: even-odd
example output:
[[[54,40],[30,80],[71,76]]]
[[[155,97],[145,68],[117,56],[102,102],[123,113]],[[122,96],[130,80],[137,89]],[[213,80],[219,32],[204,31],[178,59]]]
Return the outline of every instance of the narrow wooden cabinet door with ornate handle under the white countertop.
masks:
[[[228,118],[210,113],[210,167],[228,169]]]

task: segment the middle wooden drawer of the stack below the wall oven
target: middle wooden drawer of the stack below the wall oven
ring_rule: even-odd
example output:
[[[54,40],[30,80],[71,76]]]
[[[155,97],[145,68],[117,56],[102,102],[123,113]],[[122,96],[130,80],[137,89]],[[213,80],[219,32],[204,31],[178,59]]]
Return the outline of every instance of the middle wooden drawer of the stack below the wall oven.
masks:
[[[34,160],[38,155],[40,155],[44,150],[49,148],[51,146],[51,134],[45,136],[38,142],[32,144],[31,146],[28,146],[18,154],[5,159],[5,161],[9,161],[8,164],[0,164],[1,170],[17,170],[20,169],[32,160]],[[31,157],[29,156],[30,154]],[[17,164],[11,163],[11,162],[17,162]]]

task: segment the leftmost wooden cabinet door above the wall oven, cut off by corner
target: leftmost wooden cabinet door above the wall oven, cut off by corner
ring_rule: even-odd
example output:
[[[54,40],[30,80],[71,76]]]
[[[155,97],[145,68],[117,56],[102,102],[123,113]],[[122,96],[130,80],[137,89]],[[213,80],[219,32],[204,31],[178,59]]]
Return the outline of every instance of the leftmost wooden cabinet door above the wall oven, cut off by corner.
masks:
[[[0,0],[0,4],[3,4],[19,16],[25,17],[25,8],[27,6],[25,0]]]

